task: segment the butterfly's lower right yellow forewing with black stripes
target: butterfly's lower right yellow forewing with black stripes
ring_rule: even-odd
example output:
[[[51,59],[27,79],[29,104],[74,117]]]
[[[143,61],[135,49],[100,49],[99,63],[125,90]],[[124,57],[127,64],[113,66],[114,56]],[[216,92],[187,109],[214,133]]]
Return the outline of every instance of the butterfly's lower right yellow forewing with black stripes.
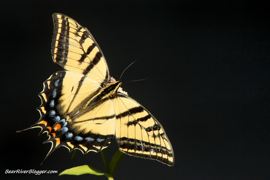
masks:
[[[155,159],[172,166],[172,145],[161,124],[137,101],[117,93],[114,101],[116,111],[116,142],[128,155]]]

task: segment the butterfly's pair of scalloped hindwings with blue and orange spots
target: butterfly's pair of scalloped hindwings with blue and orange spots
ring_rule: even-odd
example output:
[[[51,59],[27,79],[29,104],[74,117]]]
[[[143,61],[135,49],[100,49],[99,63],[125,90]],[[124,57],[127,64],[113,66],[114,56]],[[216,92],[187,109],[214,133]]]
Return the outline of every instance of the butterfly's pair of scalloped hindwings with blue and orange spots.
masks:
[[[40,134],[47,133],[49,139],[45,143],[52,143],[48,155],[60,146],[87,153],[98,152],[110,144],[116,122],[113,102],[82,107],[99,88],[95,80],[71,71],[54,73],[44,82],[39,94],[42,104],[37,108],[41,118],[30,128],[40,127]]]

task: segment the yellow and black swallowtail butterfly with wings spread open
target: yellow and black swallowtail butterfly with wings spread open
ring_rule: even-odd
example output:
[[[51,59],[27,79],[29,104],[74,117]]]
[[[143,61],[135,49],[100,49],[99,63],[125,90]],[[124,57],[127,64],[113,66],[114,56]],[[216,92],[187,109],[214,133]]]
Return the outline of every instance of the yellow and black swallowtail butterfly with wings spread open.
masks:
[[[60,146],[70,152],[99,152],[115,137],[122,152],[173,166],[173,148],[164,128],[122,90],[121,81],[110,76],[88,29],[64,14],[52,17],[52,58],[65,70],[44,82],[37,108],[41,118],[27,128],[41,128],[39,135],[47,133],[44,143],[51,142],[52,147],[46,158]]]

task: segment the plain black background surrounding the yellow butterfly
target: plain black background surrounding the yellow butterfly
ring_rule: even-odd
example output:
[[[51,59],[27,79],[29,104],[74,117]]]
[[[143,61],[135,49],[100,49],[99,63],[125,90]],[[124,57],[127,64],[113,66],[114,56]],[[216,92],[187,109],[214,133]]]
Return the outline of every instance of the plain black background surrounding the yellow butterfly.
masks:
[[[163,125],[175,165],[126,155],[115,179],[269,179],[270,33],[266,4],[197,1],[1,2],[1,179],[106,179],[59,176],[101,154],[57,149],[38,121],[43,82],[61,70],[51,57],[52,13],[87,27],[123,89]],[[116,143],[104,149],[110,160]],[[5,174],[6,170],[58,174]]]

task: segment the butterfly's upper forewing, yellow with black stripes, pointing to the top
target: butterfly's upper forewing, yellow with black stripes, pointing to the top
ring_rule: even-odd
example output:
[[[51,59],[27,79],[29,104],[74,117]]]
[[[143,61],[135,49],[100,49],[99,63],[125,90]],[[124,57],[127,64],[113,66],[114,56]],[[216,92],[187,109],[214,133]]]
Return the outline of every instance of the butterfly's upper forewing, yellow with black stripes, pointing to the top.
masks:
[[[104,55],[88,31],[70,17],[54,13],[52,58],[60,67],[109,81],[110,74]]]

